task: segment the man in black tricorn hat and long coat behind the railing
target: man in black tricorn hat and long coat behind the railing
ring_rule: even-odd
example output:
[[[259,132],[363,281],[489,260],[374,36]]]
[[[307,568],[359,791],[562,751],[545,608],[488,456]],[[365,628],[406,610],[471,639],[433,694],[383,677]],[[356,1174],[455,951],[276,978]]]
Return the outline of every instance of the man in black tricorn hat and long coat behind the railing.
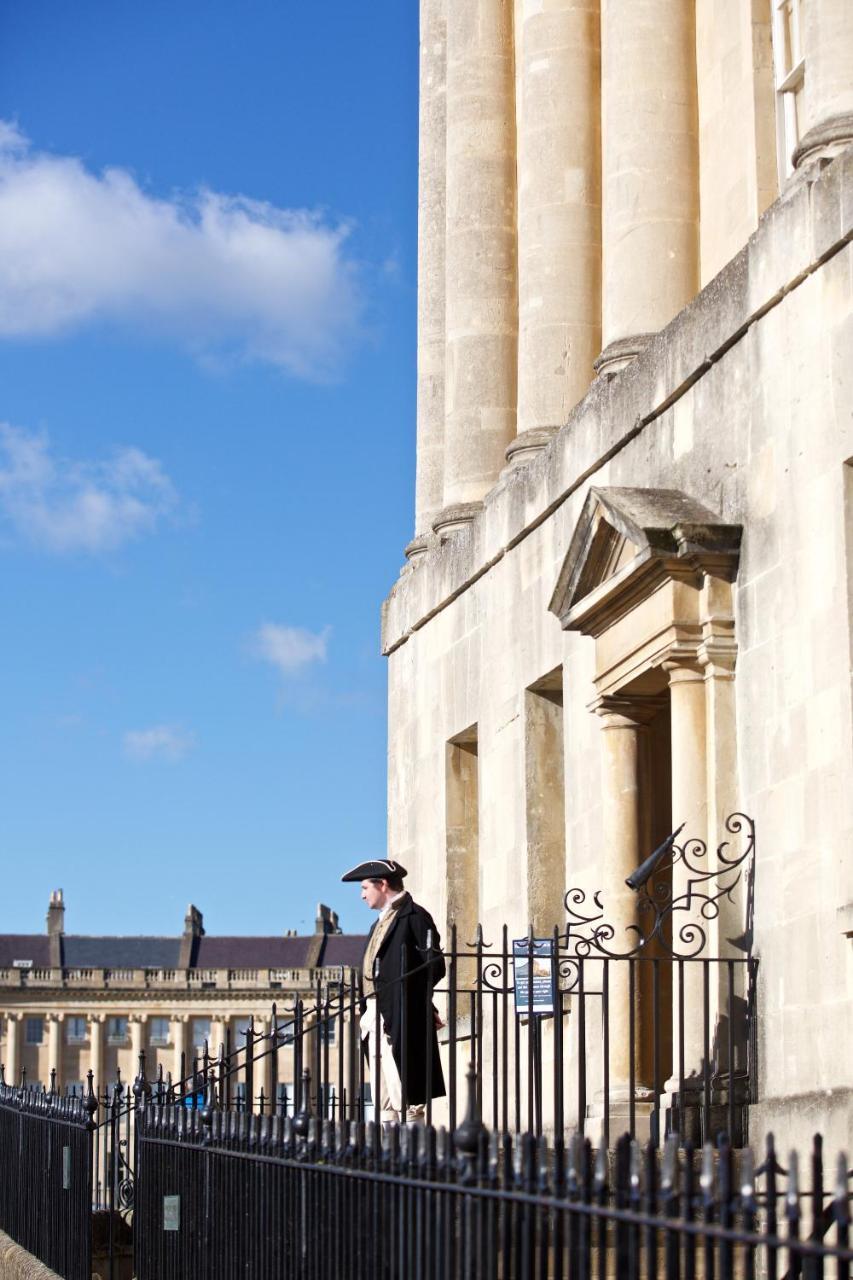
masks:
[[[444,960],[435,923],[403,888],[405,876],[400,863],[374,859],[341,877],[361,882],[362,901],[379,911],[361,963],[361,1037],[374,1105],[386,1124],[423,1120],[428,1088],[434,1098],[444,1096],[438,1015],[430,998],[444,977]]]

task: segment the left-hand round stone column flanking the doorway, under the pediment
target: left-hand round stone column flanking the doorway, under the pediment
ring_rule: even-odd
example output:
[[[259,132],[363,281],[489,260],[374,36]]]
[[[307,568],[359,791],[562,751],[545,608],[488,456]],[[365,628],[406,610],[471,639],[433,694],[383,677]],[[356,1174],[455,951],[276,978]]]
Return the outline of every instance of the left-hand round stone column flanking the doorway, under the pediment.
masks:
[[[605,865],[602,883],[607,920],[613,925],[608,947],[616,954],[633,948],[635,937],[628,931],[637,923],[637,895],[625,878],[643,856],[640,840],[639,762],[640,736],[647,717],[628,698],[605,696],[596,707],[602,728],[602,812],[605,820]],[[630,1083],[630,997],[629,966],[610,965],[610,1096],[612,1103],[625,1102]],[[638,1044],[634,1044],[637,1052]]]

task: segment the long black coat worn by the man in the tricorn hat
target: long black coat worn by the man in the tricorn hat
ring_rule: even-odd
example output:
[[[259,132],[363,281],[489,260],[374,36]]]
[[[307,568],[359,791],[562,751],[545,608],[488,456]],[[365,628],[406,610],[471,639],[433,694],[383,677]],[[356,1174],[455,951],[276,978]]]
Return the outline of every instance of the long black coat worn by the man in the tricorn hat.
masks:
[[[430,1093],[434,1098],[444,1097],[444,1076],[438,1056],[438,1034],[429,998],[430,979],[434,988],[444,977],[444,959],[439,950],[438,929],[429,911],[410,900],[394,915],[394,923],[389,928],[377,957],[377,1000],[382,1020],[391,1038],[401,1080],[405,1069],[406,1103],[415,1106],[426,1101],[428,1053],[432,1053],[433,1062]],[[371,933],[375,927],[374,924],[370,929]],[[426,933],[430,929],[433,946],[428,955]],[[403,947],[407,974],[405,979],[401,978]]]

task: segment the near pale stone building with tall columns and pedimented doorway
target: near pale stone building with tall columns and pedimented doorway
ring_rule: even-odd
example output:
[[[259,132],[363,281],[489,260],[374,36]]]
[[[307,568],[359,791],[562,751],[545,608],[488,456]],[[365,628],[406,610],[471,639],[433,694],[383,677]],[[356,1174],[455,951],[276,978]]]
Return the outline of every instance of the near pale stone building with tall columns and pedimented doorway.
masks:
[[[420,12],[389,856],[494,940],[748,813],[751,1132],[849,1146],[853,8]]]

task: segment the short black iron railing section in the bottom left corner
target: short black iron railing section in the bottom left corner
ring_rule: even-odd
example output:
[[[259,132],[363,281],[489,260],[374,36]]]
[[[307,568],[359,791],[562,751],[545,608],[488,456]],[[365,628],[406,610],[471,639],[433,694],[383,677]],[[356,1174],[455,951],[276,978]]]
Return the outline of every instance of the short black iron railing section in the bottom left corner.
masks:
[[[0,1230],[65,1280],[92,1274],[92,1111],[0,1084]]]

